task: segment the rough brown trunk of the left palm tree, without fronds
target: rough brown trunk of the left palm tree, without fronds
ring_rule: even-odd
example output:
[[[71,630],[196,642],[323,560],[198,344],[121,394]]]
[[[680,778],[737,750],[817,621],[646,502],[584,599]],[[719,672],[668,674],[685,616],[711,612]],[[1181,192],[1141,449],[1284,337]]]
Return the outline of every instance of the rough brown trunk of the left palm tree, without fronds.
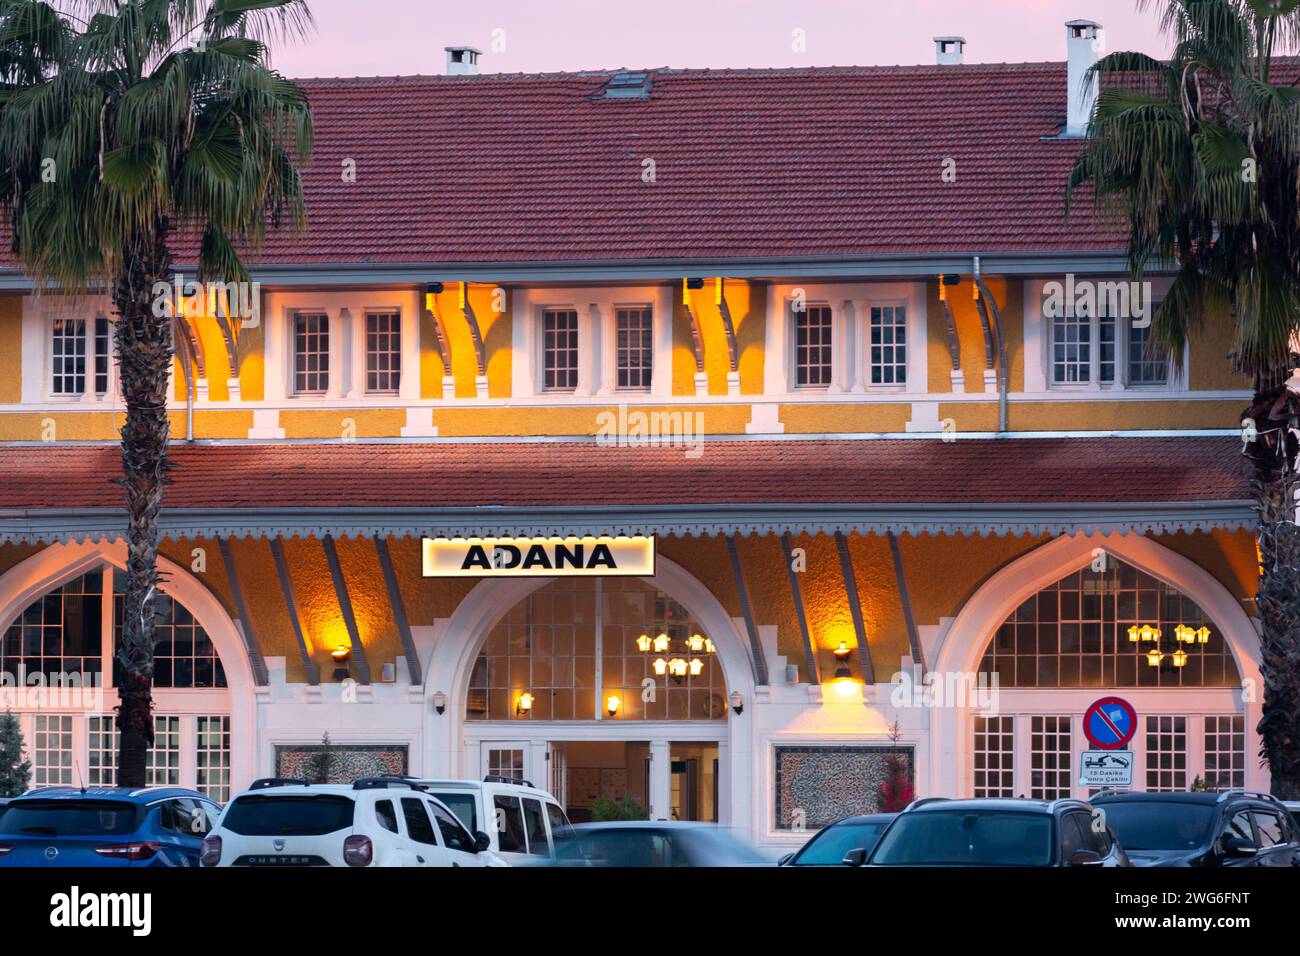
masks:
[[[126,490],[126,594],[117,648],[117,786],[146,786],[153,744],[153,593],[157,585],[159,507],[168,481],[168,382],[172,319],[153,315],[153,284],[170,272],[166,222],[125,250],[113,286],[118,312],[117,360],[126,421],[122,477]]]

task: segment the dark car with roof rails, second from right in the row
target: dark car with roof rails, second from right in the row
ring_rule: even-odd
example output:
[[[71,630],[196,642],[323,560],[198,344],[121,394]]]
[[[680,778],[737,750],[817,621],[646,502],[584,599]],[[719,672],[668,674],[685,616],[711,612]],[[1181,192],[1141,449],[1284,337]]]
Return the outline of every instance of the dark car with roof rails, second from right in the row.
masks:
[[[898,814],[868,866],[1131,866],[1082,800],[918,800]]]

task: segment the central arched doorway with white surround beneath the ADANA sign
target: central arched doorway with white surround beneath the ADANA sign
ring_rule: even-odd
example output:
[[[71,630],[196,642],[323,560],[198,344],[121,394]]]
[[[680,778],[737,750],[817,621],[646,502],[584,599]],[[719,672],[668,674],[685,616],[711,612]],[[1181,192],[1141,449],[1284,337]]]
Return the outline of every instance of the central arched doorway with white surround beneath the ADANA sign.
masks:
[[[748,818],[751,663],[716,598],[672,562],[642,579],[480,583],[437,637],[436,775],[525,777],[584,818],[602,796],[659,818]],[[439,726],[441,724],[441,726]]]

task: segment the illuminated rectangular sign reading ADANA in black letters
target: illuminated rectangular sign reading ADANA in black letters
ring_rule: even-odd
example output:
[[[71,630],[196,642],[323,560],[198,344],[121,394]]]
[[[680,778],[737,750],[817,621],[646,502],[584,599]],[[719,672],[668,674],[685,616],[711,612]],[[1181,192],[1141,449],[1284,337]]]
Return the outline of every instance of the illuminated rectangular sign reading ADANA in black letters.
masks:
[[[425,578],[654,574],[654,537],[426,537]]]

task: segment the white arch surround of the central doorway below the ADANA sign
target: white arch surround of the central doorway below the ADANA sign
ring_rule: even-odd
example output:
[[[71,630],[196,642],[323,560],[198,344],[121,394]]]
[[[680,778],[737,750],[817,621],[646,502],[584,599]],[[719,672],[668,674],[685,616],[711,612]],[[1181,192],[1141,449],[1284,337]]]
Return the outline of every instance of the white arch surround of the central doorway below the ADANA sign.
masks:
[[[558,579],[511,578],[482,580],[471,589],[447,620],[446,627],[434,644],[433,654],[425,670],[428,675],[424,687],[425,697],[428,698],[438,691],[447,695],[447,705],[443,714],[437,714],[432,706],[426,706],[425,709],[432,722],[429,740],[433,741],[433,752],[430,754],[430,773],[433,775],[464,775],[467,773],[473,775],[477,773],[477,767],[463,766],[463,750],[465,739],[464,705],[478,648],[503,614],[528,597],[528,594],[555,580]],[[727,788],[729,799],[724,793],[722,803],[725,808],[729,801],[732,821],[744,826],[750,816],[749,805],[753,787],[749,779],[749,743],[751,739],[750,726],[755,710],[753,706],[754,671],[749,652],[746,650],[746,641],[737,630],[736,622],[727,614],[727,610],[714,597],[712,592],[676,562],[659,555],[655,559],[655,574],[640,580],[668,594],[686,609],[703,632],[714,641],[718,663],[723,670],[723,679],[728,693],[740,691],[744,697],[744,713],[737,717],[728,709],[727,726],[716,728],[719,739],[727,748],[727,763],[729,766],[725,774],[729,784]],[[585,724],[584,734],[590,734],[593,728],[599,728],[599,723],[592,722]],[[604,723],[610,726],[601,730],[616,732],[623,739],[637,740],[653,736],[656,722],[610,721]]]

